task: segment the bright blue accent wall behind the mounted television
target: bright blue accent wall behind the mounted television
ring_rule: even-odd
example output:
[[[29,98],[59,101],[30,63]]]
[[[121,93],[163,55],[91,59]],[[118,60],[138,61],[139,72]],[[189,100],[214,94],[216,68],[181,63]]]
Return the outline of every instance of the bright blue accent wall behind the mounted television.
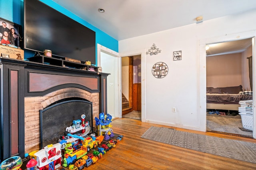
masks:
[[[100,29],[94,27],[90,23],[82,20],[72,12],[66,10],[62,6],[53,2],[52,0],[40,0],[41,2],[51,6],[52,8],[58,10],[62,14],[72,18],[73,20],[78,21],[82,25],[92,29],[96,33],[96,62],[97,62],[97,43],[118,52],[118,41],[108,34],[104,33]],[[5,20],[12,21],[14,23],[24,26],[24,0],[0,0],[0,18]],[[97,10],[97,9],[96,9]],[[24,28],[24,27],[23,27]],[[24,58],[29,58],[34,55],[34,52],[25,51]],[[97,65],[97,63],[96,63]]]

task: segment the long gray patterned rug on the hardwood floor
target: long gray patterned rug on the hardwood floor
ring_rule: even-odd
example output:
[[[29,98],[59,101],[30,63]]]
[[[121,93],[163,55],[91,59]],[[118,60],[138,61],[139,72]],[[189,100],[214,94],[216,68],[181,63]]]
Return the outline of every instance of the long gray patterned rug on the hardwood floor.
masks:
[[[150,127],[142,138],[200,152],[224,156],[256,164],[256,143],[236,141],[166,127]]]

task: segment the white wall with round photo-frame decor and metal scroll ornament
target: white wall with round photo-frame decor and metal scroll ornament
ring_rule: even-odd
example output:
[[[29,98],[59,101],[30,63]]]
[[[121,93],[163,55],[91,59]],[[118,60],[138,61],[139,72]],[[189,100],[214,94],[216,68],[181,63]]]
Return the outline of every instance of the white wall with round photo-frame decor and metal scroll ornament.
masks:
[[[142,102],[142,121],[145,119],[146,122],[204,131],[206,120],[202,121],[200,114],[200,101],[204,96],[200,96],[199,87],[206,87],[206,80],[201,81],[200,78],[200,71],[203,70],[200,66],[205,67],[205,59],[200,60],[200,42],[254,31],[255,18],[256,11],[249,11],[119,41],[121,57],[134,51],[142,53],[142,81],[145,81],[145,86],[142,83],[142,100],[146,101],[145,104]],[[239,36],[231,39],[239,39]],[[162,52],[146,55],[153,43]],[[180,50],[182,60],[173,61],[173,52]],[[160,79],[151,73],[152,66],[158,62],[166,63],[169,69],[167,76]],[[172,107],[176,107],[175,113]]]

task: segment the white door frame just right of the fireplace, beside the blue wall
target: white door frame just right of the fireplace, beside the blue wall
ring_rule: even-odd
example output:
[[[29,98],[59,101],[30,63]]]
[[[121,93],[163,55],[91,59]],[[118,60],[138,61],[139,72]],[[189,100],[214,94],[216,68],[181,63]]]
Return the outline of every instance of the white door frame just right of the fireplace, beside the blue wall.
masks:
[[[115,117],[120,117],[120,113],[122,111],[122,107],[120,107],[120,100],[122,100],[122,97],[120,98],[120,95],[119,95],[119,91],[118,91],[118,80],[120,79],[119,78],[119,74],[118,74],[118,70],[119,70],[119,67],[118,67],[118,63],[119,63],[119,60],[120,60],[120,57],[118,55],[118,53],[116,51],[113,51],[111,49],[108,49],[107,47],[104,47],[100,44],[97,44],[97,66],[101,66],[101,55],[100,53],[106,53],[112,57],[117,57],[118,58],[118,62],[116,63],[116,65],[114,65],[113,67],[117,68],[115,69],[115,75],[117,75],[118,78],[114,78],[114,116]],[[104,69],[104,68],[103,68]],[[107,94],[107,95],[112,95],[112,94]],[[118,103],[118,104],[116,104]],[[122,117],[122,115],[121,115]]]

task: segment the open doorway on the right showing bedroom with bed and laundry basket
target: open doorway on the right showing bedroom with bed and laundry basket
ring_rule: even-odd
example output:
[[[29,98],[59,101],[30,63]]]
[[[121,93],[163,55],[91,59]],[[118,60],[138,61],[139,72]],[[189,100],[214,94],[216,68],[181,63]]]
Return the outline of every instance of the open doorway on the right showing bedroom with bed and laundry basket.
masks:
[[[252,137],[252,38],[206,47],[206,131]]]

